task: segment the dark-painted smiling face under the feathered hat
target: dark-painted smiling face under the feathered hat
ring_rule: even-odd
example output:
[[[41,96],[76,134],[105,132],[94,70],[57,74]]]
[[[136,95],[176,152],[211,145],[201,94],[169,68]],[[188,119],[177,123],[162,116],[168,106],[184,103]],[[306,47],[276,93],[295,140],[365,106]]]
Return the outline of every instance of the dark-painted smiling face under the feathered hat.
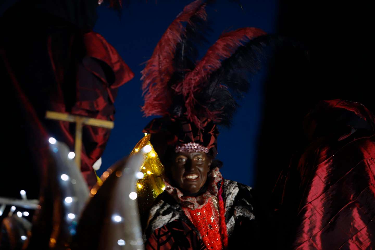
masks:
[[[171,174],[179,189],[197,193],[207,180],[211,158],[204,152],[178,152],[172,157]]]

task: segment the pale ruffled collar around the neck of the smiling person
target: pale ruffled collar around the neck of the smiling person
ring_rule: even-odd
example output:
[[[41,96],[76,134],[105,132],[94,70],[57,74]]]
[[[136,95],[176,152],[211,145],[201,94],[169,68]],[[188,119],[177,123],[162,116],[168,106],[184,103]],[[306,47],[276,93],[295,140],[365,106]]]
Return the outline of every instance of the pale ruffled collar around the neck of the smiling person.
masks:
[[[184,195],[181,190],[177,187],[173,187],[171,184],[165,183],[165,192],[171,195],[178,204],[182,207],[187,207],[192,210],[202,208],[207,204],[211,197],[216,197],[222,184],[223,177],[219,171],[219,168],[213,168],[208,172],[207,181],[205,183],[207,190],[198,196],[187,196]]]

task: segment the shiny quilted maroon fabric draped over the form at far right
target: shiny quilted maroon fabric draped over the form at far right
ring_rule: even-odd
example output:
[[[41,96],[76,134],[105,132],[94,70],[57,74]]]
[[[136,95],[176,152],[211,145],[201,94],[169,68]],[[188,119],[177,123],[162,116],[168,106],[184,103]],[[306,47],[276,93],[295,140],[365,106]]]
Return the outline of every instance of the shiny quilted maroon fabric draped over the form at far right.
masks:
[[[363,105],[342,100],[306,117],[311,143],[276,186],[293,249],[375,249],[374,124]]]

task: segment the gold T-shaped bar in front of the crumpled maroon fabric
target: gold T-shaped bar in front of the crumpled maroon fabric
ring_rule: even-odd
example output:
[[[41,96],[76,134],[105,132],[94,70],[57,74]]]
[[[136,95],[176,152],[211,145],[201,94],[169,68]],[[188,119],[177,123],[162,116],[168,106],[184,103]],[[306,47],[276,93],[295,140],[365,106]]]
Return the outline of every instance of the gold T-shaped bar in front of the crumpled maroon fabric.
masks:
[[[84,117],[80,115],[71,115],[66,113],[47,111],[46,118],[59,121],[69,121],[75,123],[75,140],[74,140],[74,153],[75,163],[78,169],[81,169],[81,149],[82,149],[82,127],[83,125],[104,127],[106,129],[113,129],[113,121],[95,119]]]

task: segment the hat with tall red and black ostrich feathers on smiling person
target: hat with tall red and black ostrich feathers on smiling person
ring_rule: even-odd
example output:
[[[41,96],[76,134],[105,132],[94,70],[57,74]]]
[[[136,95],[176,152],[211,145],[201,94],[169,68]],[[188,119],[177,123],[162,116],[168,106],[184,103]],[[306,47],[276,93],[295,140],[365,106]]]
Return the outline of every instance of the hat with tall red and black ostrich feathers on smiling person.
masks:
[[[223,33],[197,61],[196,44],[207,30],[205,7],[202,0],[187,5],[157,43],[141,72],[142,111],[163,116],[144,129],[154,147],[190,143],[214,156],[216,125],[230,126],[236,99],[249,90],[249,74],[257,70],[258,52],[269,38],[258,28]]]

